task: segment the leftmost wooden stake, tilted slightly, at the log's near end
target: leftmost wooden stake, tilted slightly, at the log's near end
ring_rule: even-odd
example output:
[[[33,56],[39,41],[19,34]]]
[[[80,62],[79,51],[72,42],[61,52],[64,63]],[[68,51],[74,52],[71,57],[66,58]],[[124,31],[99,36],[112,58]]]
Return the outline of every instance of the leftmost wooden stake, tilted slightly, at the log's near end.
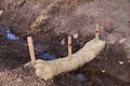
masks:
[[[28,41],[28,47],[29,47],[29,54],[30,54],[31,64],[34,64],[35,61],[36,61],[36,57],[35,57],[35,51],[34,51],[34,44],[32,44],[31,37],[28,37],[27,41]]]

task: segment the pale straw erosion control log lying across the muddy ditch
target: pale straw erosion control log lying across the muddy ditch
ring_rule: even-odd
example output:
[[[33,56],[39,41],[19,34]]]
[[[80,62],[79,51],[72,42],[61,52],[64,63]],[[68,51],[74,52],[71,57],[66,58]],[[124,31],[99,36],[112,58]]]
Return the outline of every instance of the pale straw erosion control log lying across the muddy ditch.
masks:
[[[91,40],[80,51],[72,55],[72,60],[69,60],[69,57],[50,61],[36,60],[36,63],[34,64],[36,75],[49,80],[61,73],[81,68],[83,64],[94,59],[104,46],[104,41],[100,40],[99,42],[95,42],[95,40]]]

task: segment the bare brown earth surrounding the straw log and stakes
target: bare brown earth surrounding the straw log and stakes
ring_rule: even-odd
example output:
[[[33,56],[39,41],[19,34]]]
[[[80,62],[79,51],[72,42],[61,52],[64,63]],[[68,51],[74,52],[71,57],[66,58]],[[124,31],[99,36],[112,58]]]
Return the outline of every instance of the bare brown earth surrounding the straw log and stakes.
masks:
[[[0,26],[11,28],[21,41],[9,40],[0,31],[0,86],[130,86],[130,0],[0,0]],[[26,38],[34,38],[37,58],[43,52],[67,55],[67,35],[73,53],[94,37],[101,26],[104,51],[84,67],[43,81],[35,75]],[[61,42],[65,41],[62,45]],[[122,63],[121,63],[121,62]],[[83,73],[87,80],[75,77]]]

